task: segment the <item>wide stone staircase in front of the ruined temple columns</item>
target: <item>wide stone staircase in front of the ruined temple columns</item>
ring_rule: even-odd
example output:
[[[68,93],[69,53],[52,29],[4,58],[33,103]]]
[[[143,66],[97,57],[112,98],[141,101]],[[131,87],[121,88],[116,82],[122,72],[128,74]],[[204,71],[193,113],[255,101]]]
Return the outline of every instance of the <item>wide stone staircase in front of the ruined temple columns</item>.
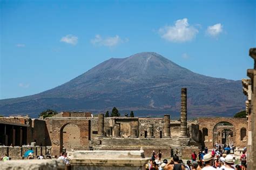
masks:
[[[179,138],[103,138],[93,149],[139,149],[180,147]]]

